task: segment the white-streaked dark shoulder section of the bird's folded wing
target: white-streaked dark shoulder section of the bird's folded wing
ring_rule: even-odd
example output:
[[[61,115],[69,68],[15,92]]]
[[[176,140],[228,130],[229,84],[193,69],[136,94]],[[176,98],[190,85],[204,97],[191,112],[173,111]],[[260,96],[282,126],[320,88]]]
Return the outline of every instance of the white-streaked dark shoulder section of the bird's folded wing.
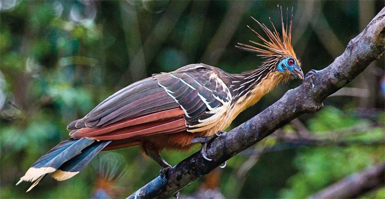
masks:
[[[229,109],[232,94],[222,74],[218,68],[195,64],[157,77],[159,85],[183,109],[187,131],[213,127]]]

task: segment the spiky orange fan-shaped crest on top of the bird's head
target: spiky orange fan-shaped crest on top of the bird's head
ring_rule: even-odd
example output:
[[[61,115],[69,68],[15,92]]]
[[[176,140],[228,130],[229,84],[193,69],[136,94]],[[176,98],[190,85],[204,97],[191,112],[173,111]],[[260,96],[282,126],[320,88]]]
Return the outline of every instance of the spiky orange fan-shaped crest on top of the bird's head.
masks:
[[[282,35],[280,35],[280,33],[277,31],[270,17],[269,17],[269,21],[272,24],[273,31],[268,29],[265,24],[261,24],[260,22],[257,21],[257,19],[252,17],[254,21],[256,21],[258,25],[262,28],[262,30],[265,32],[267,37],[266,38],[263,37],[253,28],[247,26],[247,28],[253,31],[258,36],[258,38],[262,40],[262,42],[258,43],[254,41],[249,41],[256,46],[238,43],[238,46],[236,47],[242,50],[250,51],[250,52],[257,52],[259,53],[258,56],[262,56],[265,58],[282,58],[282,57],[292,56],[295,59],[297,59],[292,46],[293,8],[291,10],[291,16],[290,16],[290,21],[288,25],[287,25],[288,9],[286,9],[286,13],[287,13],[286,25],[284,25],[283,23],[282,7],[278,6],[278,10],[281,17],[281,26],[282,26],[281,34]]]

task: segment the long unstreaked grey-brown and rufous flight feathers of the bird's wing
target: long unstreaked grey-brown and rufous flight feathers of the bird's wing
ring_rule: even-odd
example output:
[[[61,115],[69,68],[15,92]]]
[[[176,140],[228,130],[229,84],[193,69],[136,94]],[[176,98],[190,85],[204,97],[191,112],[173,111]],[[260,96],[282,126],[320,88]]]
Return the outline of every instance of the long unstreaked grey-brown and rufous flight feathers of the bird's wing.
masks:
[[[121,140],[133,136],[185,130],[184,112],[158,84],[149,77],[121,89],[70,123],[73,138]]]

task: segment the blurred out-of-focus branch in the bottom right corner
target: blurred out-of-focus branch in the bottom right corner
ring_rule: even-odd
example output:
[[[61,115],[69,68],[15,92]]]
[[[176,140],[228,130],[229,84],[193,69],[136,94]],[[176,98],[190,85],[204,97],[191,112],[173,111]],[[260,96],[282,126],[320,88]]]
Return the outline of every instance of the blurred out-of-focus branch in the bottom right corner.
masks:
[[[312,195],[311,199],[356,198],[362,193],[383,186],[385,183],[385,163],[360,173],[343,178],[337,183]]]

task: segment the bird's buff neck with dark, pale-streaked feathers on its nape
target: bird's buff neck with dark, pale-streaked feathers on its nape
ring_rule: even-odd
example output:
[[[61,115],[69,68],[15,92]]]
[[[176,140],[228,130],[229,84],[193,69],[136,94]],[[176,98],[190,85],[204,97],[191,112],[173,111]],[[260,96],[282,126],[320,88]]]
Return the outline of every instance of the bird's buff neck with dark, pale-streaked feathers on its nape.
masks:
[[[284,73],[271,71],[265,66],[232,76],[230,89],[233,92],[233,102],[239,111],[254,105],[281,81],[287,81],[289,78]]]

